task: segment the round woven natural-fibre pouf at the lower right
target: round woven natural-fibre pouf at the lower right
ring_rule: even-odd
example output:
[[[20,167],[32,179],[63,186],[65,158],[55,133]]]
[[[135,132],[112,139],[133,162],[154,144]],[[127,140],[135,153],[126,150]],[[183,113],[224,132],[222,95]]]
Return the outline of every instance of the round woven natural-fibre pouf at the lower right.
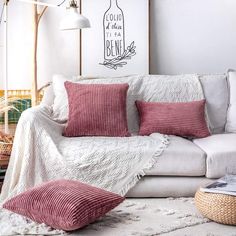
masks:
[[[195,205],[210,220],[226,225],[236,225],[236,197],[234,196],[198,190],[195,194]]]

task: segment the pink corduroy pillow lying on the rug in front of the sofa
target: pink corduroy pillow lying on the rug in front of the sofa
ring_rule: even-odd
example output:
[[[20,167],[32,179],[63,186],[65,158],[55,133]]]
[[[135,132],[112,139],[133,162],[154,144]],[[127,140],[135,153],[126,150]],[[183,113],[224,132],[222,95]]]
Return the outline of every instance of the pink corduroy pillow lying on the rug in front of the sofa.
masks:
[[[32,188],[3,207],[55,229],[82,228],[118,206],[124,198],[72,180],[56,180]]]

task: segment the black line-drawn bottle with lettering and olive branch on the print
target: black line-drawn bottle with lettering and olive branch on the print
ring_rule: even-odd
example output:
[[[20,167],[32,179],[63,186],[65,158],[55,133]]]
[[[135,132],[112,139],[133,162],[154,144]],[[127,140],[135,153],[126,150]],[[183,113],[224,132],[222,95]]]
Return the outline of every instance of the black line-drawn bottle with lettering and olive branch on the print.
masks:
[[[110,5],[103,17],[104,62],[100,65],[117,70],[127,65],[136,55],[134,41],[126,48],[125,16],[118,0],[108,0]]]

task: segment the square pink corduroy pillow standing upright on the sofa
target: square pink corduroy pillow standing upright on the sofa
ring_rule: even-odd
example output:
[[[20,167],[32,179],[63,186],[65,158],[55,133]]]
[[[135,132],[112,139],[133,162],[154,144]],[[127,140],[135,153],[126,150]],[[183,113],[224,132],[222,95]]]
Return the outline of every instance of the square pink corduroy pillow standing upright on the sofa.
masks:
[[[69,119],[64,136],[130,136],[126,114],[128,84],[65,82],[65,88]]]

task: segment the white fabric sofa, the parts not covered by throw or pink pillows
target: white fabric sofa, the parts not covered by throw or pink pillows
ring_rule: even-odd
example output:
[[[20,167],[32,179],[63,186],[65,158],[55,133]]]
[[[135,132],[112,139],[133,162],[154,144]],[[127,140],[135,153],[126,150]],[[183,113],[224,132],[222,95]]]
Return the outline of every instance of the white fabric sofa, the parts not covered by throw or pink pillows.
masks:
[[[227,75],[202,75],[199,78],[207,101],[212,135],[192,141],[170,136],[169,148],[129,191],[128,197],[193,196],[199,186],[222,177],[227,169],[236,168],[236,133],[230,133],[232,128],[225,131],[226,123],[232,122],[227,114],[233,100],[230,86],[233,84],[233,90],[236,90],[235,83],[229,83]],[[52,105],[52,95],[53,89],[49,87],[42,102]]]

